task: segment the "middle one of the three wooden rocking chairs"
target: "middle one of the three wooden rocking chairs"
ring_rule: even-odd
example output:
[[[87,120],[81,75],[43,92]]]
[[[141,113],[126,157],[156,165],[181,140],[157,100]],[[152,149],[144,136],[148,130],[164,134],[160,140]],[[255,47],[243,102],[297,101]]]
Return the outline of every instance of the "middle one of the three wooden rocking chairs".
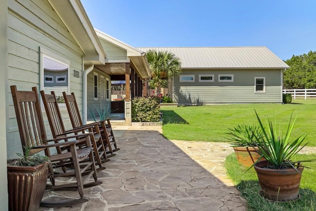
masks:
[[[90,136],[94,156],[95,156],[95,162],[98,164],[99,168],[97,168],[97,171],[105,169],[105,167],[102,167],[102,163],[105,163],[106,161],[109,161],[106,156],[105,146],[101,137],[100,129],[98,127],[99,124],[91,124],[86,127],[79,127],[71,129],[71,130],[65,130],[63,119],[61,117],[61,113],[59,110],[58,102],[56,100],[55,92],[51,91],[51,94],[45,94],[43,90],[40,91],[40,95],[43,99],[44,107],[46,110],[49,126],[52,131],[52,135],[54,138],[59,138],[66,136],[71,133],[84,133],[85,130],[88,130],[89,132],[94,132],[94,135]],[[79,139],[79,143],[77,144],[79,147],[82,147],[85,145],[84,138]],[[101,160],[101,158],[103,158]]]

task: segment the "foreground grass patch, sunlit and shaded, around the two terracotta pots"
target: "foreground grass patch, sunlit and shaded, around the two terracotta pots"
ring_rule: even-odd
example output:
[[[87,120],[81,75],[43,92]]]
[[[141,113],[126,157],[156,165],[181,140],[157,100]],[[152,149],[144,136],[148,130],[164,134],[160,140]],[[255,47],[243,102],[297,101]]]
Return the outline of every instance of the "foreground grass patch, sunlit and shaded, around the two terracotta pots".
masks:
[[[297,155],[293,160],[311,160],[316,154]],[[260,185],[255,170],[239,166],[235,154],[226,158],[225,168],[242,197],[247,200],[249,211],[316,211],[316,162],[304,163],[305,168],[300,184],[300,198],[294,202],[269,202],[259,196]]]

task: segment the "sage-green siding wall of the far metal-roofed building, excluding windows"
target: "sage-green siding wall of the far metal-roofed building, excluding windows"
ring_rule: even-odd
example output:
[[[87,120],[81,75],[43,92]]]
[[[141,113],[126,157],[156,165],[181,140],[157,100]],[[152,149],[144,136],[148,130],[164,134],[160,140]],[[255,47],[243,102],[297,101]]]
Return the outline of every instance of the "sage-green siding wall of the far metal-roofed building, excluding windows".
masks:
[[[214,82],[199,82],[199,74],[214,75]],[[219,74],[234,75],[234,82],[219,82]],[[173,79],[173,100],[179,104],[281,103],[282,70],[182,70],[194,75],[195,82]],[[255,93],[255,77],[265,77],[265,93]]]

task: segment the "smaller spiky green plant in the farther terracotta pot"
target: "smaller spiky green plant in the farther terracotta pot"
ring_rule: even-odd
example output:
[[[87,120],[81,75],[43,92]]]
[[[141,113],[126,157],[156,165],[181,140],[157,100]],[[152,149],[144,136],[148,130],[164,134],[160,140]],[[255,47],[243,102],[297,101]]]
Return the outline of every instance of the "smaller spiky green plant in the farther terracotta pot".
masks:
[[[259,125],[237,125],[229,128],[226,134],[227,139],[231,140],[233,147],[251,147],[256,141],[255,137],[262,136],[262,129]]]

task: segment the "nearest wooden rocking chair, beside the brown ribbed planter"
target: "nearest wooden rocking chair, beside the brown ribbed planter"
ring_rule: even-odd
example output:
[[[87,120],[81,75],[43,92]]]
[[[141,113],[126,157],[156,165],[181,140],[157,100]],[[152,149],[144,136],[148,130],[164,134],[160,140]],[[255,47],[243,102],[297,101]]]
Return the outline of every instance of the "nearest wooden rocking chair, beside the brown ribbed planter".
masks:
[[[43,117],[40,109],[39,94],[37,87],[32,88],[33,91],[18,91],[16,86],[11,86],[11,93],[17,123],[19,127],[21,143],[24,147],[31,147],[31,154],[41,151],[49,158],[53,164],[53,172],[50,177],[51,185],[47,184],[46,189],[53,190],[78,190],[79,199],[67,199],[62,201],[42,201],[42,207],[69,207],[77,204],[87,202],[89,199],[84,197],[83,188],[99,185],[102,181],[97,180],[97,172],[94,164],[94,157],[90,142],[90,135],[92,133],[84,133],[74,136],[54,138],[47,140]],[[77,149],[76,143],[79,141],[77,138],[85,137],[85,148]],[[61,142],[62,141],[62,142]],[[51,142],[51,143],[50,143]],[[69,151],[62,152],[61,147],[69,147]],[[56,150],[58,153],[51,154],[51,150]],[[81,161],[87,161],[80,163]],[[85,166],[82,166],[82,165]],[[71,166],[74,171],[72,172],[57,172],[56,170],[61,167]],[[87,174],[87,169],[91,169]],[[86,177],[83,180],[83,172]],[[69,182],[67,184],[56,185],[56,177],[75,176],[76,182]],[[87,180],[93,176],[93,182]]]

